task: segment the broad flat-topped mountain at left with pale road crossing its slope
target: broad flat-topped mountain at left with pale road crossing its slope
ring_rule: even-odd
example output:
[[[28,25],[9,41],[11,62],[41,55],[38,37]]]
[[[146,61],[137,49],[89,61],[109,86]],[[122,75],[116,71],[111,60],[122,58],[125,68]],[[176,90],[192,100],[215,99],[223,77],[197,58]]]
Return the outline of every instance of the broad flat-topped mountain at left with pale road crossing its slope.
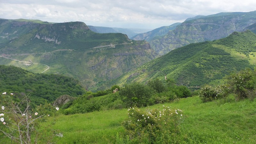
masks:
[[[0,64],[71,76],[90,90],[156,56],[146,41],[133,41],[121,33],[95,33],[83,22],[4,19],[0,53]]]

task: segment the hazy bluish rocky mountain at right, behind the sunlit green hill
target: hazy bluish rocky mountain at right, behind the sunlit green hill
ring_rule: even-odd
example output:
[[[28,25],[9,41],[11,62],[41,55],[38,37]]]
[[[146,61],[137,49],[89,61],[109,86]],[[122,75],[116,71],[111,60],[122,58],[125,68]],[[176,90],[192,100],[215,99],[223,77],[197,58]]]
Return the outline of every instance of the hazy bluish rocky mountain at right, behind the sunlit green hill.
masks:
[[[168,34],[150,41],[151,47],[164,55],[178,47],[224,38],[234,31],[256,23],[256,11],[222,12],[209,16],[197,16],[184,21]]]

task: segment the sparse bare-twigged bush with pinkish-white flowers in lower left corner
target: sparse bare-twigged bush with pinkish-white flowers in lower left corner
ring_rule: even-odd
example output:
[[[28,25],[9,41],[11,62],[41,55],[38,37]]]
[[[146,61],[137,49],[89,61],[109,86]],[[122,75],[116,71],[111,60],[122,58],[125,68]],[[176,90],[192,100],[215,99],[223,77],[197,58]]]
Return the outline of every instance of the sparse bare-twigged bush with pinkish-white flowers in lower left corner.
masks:
[[[3,92],[0,98],[1,111],[0,111],[0,132],[14,141],[15,143],[31,143],[31,134],[38,126],[38,120],[47,115],[45,108],[47,105],[40,105],[36,111],[30,109],[28,96],[25,96],[20,102],[13,100],[13,93],[8,95]],[[50,106],[50,105],[48,105]],[[41,108],[41,109],[40,109]],[[56,108],[57,109],[57,108]],[[48,109],[49,111],[49,109]]]

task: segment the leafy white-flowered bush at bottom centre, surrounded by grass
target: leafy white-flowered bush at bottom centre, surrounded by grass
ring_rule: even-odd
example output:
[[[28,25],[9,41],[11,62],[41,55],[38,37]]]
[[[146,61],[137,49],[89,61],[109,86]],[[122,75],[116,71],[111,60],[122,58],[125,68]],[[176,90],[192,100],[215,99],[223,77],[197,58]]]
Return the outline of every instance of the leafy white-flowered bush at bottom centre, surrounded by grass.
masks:
[[[153,109],[147,112],[138,108],[128,109],[129,118],[122,125],[132,143],[170,143],[179,132],[178,125],[183,121],[180,109]]]

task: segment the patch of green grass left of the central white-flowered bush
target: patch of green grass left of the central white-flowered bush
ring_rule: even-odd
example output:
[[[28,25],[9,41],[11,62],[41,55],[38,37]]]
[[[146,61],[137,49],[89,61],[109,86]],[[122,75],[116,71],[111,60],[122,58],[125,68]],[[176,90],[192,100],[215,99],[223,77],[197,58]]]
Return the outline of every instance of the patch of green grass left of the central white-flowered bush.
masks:
[[[49,119],[44,126],[58,130],[63,137],[54,137],[57,143],[115,143],[116,133],[124,132],[121,122],[127,110],[97,111],[86,114],[58,116]],[[58,133],[57,132],[57,133]],[[49,133],[50,135],[52,133]]]

